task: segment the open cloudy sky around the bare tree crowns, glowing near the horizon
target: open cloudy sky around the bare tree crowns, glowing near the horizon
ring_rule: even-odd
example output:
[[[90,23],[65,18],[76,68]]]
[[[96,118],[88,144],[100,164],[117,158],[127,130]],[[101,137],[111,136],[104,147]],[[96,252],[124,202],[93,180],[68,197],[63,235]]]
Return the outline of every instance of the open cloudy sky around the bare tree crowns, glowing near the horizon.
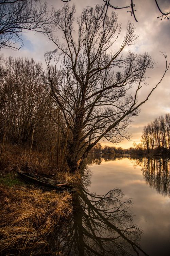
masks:
[[[48,0],[49,9],[54,6],[55,9],[60,9],[64,4],[61,0]],[[75,3],[76,16],[81,14],[83,8],[87,5],[95,6],[95,4],[103,4],[103,0],[71,0],[69,5]],[[110,3],[114,6],[126,6],[129,5],[130,0],[110,0]],[[147,86],[143,86],[143,90],[139,96],[139,99],[143,99],[147,96],[149,90],[151,90],[160,80],[164,69],[165,60],[162,57],[161,52],[166,52],[168,62],[170,62],[170,19],[160,20],[157,16],[160,13],[157,9],[154,0],[134,0],[135,3],[135,15],[138,22],[130,13],[127,13],[128,9],[115,10],[118,14],[118,23],[122,24],[122,32],[120,36],[123,38],[128,20],[134,23],[136,30],[135,33],[139,35],[136,40],[136,44],[130,47],[126,47],[124,51],[132,51],[137,54],[148,52],[152,59],[155,61],[155,67],[153,70],[147,73],[149,77]],[[170,0],[158,0],[160,8],[163,12],[170,11]],[[108,10],[108,14],[113,11],[111,8]],[[170,17],[170,15],[169,15]],[[4,57],[13,56],[33,58],[35,61],[40,61],[45,67],[44,53],[46,51],[52,51],[55,49],[53,43],[49,42],[44,35],[38,32],[22,33],[22,39],[24,46],[20,51],[14,51],[12,49],[2,49],[1,54]],[[152,122],[156,117],[170,113],[170,69],[166,73],[161,84],[153,92],[149,100],[143,104],[140,108],[138,116],[133,118],[133,122],[129,127],[129,132],[132,134],[132,138],[128,141],[124,139],[120,144],[123,148],[133,146],[133,143],[140,143],[143,127],[149,122]],[[102,143],[103,145],[115,146],[111,142]]]

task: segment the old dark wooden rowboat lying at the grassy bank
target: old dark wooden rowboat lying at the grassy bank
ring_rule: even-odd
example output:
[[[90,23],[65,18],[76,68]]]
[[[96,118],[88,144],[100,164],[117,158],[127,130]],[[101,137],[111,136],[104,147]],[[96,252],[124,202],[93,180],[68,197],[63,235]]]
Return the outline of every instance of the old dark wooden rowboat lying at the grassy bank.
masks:
[[[18,168],[19,169],[19,168]],[[37,186],[40,186],[42,188],[49,188],[49,189],[56,189],[57,191],[63,192],[63,191],[76,191],[77,188],[73,187],[67,183],[62,183],[62,182],[56,182],[52,179],[48,179],[46,177],[33,174],[27,171],[17,171],[21,179],[26,181],[27,183],[34,183]]]

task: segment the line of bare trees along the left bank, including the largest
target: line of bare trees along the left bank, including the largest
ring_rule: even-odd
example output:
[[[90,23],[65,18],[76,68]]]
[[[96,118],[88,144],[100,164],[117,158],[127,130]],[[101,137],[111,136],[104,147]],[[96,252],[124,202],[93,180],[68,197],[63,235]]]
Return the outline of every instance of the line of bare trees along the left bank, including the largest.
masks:
[[[114,12],[108,17],[96,5],[87,6],[77,19],[74,14],[75,5],[65,4],[53,13],[50,29],[45,25],[43,33],[55,47],[45,53],[46,69],[33,59],[10,57],[1,64],[1,161],[12,143],[29,148],[28,163],[34,148],[40,152],[39,162],[46,155],[51,166],[74,172],[101,139],[130,138],[132,118],[169,68],[163,53],[166,65],[160,81],[138,100],[154,62],[148,53],[123,52],[137,39],[133,24],[127,24],[118,47],[122,27]],[[56,30],[62,33],[61,42]]]

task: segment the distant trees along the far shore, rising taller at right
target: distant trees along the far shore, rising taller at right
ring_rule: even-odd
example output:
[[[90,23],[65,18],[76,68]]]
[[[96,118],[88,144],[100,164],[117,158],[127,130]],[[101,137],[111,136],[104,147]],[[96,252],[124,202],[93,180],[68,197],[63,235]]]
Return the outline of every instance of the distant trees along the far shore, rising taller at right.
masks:
[[[98,143],[92,148],[91,153],[132,155],[170,154],[170,114],[166,114],[164,117],[159,116],[153,122],[145,126],[142,132],[141,143],[134,143],[133,147],[128,149],[110,146],[102,147],[101,143]]]

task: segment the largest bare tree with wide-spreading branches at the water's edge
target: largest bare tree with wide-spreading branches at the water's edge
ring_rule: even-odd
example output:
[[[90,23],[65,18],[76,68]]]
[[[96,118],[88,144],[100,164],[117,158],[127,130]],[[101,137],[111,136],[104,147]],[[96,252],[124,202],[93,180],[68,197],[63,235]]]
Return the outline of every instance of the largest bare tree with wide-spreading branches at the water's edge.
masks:
[[[149,99],[169,68],[166,62],[161,80],[145,100],[138,101],[142,84],[146,84],[146,71],[153,68],[154,62],[148,53],[122,53],[137,38],[134,26],[128,23],[124,40],[117,47],[121,32],[117,15],[113,12],[109,18],[103,6],[97,5],[95,9],[88,6],[77,19],[78,40],[75,41],[74,13],[75,6],[70,8],[68,4],[55,13],[55,26],[63,33],[65,44],[58,41],[54,32],[48,33],[58,52],[46,54],[45,78],[69,129],[66,161],[72,171],[101,139],[120,142],[129,138],[126,128],[131,117],[139,113],[139,106]],[[56,84],[61,54],[62,75]],[[163,55],[166,59],[166,54]]]

